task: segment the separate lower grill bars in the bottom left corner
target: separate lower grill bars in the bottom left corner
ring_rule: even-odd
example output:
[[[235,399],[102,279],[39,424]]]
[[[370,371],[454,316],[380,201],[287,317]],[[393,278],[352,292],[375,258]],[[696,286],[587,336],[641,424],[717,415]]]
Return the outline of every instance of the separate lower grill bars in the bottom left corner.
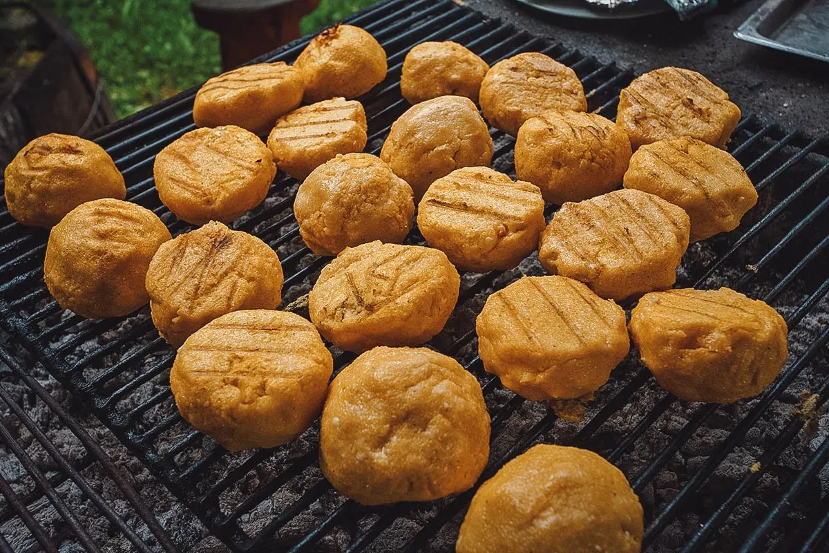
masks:
[[[106,544],[100,536],[120,534],[133,547],[133,551],[151,553],[152,551],[176,551],[167,531],[164,531],[153,512],[138,496],[130,485],[128,478],[121,468],[118,468],[109,456],[104,453],[99,444],[61,407],[60,403],[41,386],[7,351],[0,349],[0,371],[3,377],[0,382],[0,401],[10,415],[4,424],[0,425],[0,448],[7,456],[7,461],[13,458],[19,472],[25,473],[26,478],[18,474],[3,474],[0,472],[0,493],[5,504],[0,506],[0,528],[7,528],[17,521],[26,526],[29,534],[20,534],[17,528],[15,546],[0,535],[0,551],[59,551],[61,545],[75,543],[83,546],[85,551],[106,551]],[[83,455],[80,461],[67,458],[70,446],[58,446],[51,442],[35,420],[27,414],[34,410],[35,405],[19,405],[22,401],[15,399],[11,386],[23,386],[24,390],[32,392],[37,400],[47,406],[62,424],[75,435],[74,448],[82,448]],[[48,455],[46,460],[32,454],[20,444],[12,435],[10,426],[26,429],[32,439],[40,444]],[[79,457],[79,449],[72,453],[73,458]],[[10,463],[6,464],[7,469]],[[107,501],[87,482],[84,473],[97,471],[107,475],[109,480],[119,489],[120,498],[131,507],[136,515],[151,532],[154,540],[138,536],[135,529],[119,514],[114,502]],[[80,492],[80,499],[78,494]],[[68,497],[67,497],[68,496]],[[45,508],[46,501],[51,508]],[[91,507],[91,508],[90,508]],[[80,511],[83,514],[80,514]],[[123,508],[120,509],[123,511]],[[109,525],[104,532],[92,535],[90,522],[103,519],[101,522]],[[49,526],[47,529],[45,526]]]

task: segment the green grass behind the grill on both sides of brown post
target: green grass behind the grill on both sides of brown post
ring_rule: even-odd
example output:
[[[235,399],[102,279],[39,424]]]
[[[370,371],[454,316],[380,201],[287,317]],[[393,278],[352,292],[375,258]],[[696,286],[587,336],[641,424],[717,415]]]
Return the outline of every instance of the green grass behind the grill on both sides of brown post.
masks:
[[[322,0],[303,34],[376,0]],[[220,72],[219,38],[196,25],[189,0],[51,0],[90,50],[119,117]],[[162,7],[163,6],[163,7]]]

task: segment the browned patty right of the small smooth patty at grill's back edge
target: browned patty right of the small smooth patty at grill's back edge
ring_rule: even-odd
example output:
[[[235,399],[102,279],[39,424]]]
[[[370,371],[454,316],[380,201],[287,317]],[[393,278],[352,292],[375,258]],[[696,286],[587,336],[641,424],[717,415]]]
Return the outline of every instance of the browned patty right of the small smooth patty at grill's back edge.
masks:
[[[539,52],[492,65],[481,83],[480,99],[487,121],[512,136],[527,119],[548,111],[587,110],[584,87],[575,71]]]

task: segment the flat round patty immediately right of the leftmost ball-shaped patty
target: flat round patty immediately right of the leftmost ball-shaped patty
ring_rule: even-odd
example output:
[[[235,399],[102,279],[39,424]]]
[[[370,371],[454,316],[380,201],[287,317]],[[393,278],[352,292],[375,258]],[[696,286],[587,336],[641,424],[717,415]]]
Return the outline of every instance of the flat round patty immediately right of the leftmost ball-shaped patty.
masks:
[[[158,197],[193,225],[238,219],[262,203],[275,176],[270,150],[254,133],[233,125],[185,133],[153,163]]]

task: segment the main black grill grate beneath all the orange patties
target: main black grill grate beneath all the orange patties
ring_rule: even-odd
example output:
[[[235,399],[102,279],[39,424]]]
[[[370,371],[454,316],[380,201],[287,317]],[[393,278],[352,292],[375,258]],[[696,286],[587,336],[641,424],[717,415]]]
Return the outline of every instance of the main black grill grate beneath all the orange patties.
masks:
[[[399,94],[400,66],[410,47],[421,41],[458,41],[490,64],[522,51],[545,52],[573,67],[584,83],[589,109],[610,118],[618,91],[633,78],[631,70],[584,57],[448,0],[389,0],[350,22],[375,35],[389,56],[386,80],[361,98],[369,115],[366,151],[371,153],[379,152],[390,124],[408,107]],[[300,39],[266,59],[293,61],[306,43]],[[173,234],[190,227],[158,200],[152,164],[164,145],[194,128],[192,97],[193,91],[182,93],[96,138],[124,173],[128,199],[162,216]],[[514,176],[513,140],[494,129],[491,133],[493,167]],[[821,551],[829,531],[829,502],[813,490],[819,489],[819,473],[829,459],[829,441],[812,451],[811,434],[803,429],[809,416],[794,407],[800,390],[807,388],[817,395],[812,407],[820,409],[829,387],[821,368],[829,349],[829,148],[823,138],[787,133],[747,116],[730,150],[756,184],[759,204],[738,230],[692,245],[677,285],[730,286],[764,298],[783,313],[792,352],[778,381],[758,399],[739,405],[676,400],[658,389],[635,357],[614,371],[579,424],[512,395],[482,370],[473,320],[487,293],[509,284],[520,276],[518,271],[463,274],[456,314],[430,345],[458,358],[482,384],[492,415],[492,455],[483,478],[538,441],[578,445],[603,454],[628,476],[646,509],[646,546],[665,549],[672,532],[681,546],[671,549],[684,547],[682,551],[703,551],[711,544],[717,551],[764,551],[781,543],[789,551]],[[280,172],[263,206],[233,225],[277,250],[286,275],[286,304],[306,293],[327,263],[298,237],[291,211],[297,186]],[[549,217],[552,209],[547,211]],[[414,231],[407,241],[422,243],[422,237]],[[129,318],[96,321],[62,312],[42,284],[45,243],[45,231],[17,225],[5,209],[0,213],[3,326],[65,386],[88,400],[128,449],[232,549],[364,551],[377,538],[385,540],[382,551],[451,549],[447,544],[473,491],[427,504],[361,507],[322,478],[317,427],[280,448],[229,454],[184,423],[167,381],[175,352],[158,337],[148,309]],[[525,272],[538,270],[537,265],[522,266]],[[353,358],[333,352],[335,371]],[[741,473],[723,477],[724,462],[737,451],[750,450],[747,441],[756,438],[761,425],[763,447],[754,459],[759,464],[751,468],[747,463]],[[684,466],[686,449],[701,439],[705,454],[696,454],[693,466],[690,460]],[[793,458],[805,462],[786,468]],[[677,463],[684,468],[678,470]],[[674,492],[655,493],[668,473],[676,474]],[[777,478],[783,492],[769,497],[764,492],[762,502],[747,507],[764,478]],[[691,515],[701,523],[683,526]],[[731,530],[725,532],[726,526]]]

